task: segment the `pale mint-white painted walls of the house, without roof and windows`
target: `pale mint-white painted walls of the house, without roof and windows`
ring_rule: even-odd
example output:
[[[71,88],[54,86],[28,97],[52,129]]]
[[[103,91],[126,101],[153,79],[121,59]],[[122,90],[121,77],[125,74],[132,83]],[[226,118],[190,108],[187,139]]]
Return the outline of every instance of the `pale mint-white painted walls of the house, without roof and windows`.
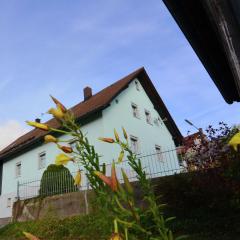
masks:
[[[116,102],[118,101],[118,103]],[[138,105],[140,118],[133,117],[131,103]],[[145,119],[145,109],[151,113],[152,125],[148,124]],[[82,127],[84,133],[87,133],[90,143],[95,145],[96,151],[103,155],[101,162],[110,163],[116,159],[119,149],[112,144],[100,142],[98,137],[113,137],[113,129],[119,131],[121,137],[121,127],[124,126],[129,135],[133,135],[139,139],[139,147],[141,152],[155,152],[155,145],[161,146],[162,150],[174,149],[175,145],[172,136],[166,128],[164,122],[161,121],[159,126],[153,122],[154,118],[159,117],[157,111],[142,86],[137,91],[135,81],[129,87],[120,93],[114,99],[110,107],[103,110],[102,118],[99,118]],[[68,139],[67,135],[61,139]],[[3,164],[3,181],[2,196],[0,197],[0,218],[11,216],[11,209],[6,208],[6,198],[10,194],[12,199],[16,196],[17,182],[39,180],[45,169],[38,168],[38,155],[45,151],[47,165],[54,163],[55,156],[60,153],[55,144],[42,144],[30,151],[10,160]],[[16,178],[16,163],[21,162],[22,174]],[[177,163],[174,154],[174,162]],[[75,171],[73,164],[68,165],[70,171]],[[2,207],[3,206],[3,207]],[[3,209],[4,208],[4,209]]]

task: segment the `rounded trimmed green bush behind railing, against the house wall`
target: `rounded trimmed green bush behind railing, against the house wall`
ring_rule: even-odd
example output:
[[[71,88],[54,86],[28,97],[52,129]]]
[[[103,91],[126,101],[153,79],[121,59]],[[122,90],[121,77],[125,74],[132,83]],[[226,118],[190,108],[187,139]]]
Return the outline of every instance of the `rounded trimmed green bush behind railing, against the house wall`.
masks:
[[[42,175],[39,194],[40,196],[50,196],[77,190],[70,171],[62,165],[51,164]]]

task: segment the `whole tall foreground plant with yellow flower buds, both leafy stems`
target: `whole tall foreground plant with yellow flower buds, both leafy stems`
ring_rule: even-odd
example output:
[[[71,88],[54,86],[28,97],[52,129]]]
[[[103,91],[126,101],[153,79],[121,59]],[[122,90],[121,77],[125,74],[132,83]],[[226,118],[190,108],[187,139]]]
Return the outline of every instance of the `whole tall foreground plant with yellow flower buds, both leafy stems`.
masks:
[[[172,231],[167,227],[167,223],[174,218],[165,219],[163,214],[165,205],[157,204],[151,182],[141,165],[141,161],[132,152],[128,144],[126,130],[122,129],[124,141],[120,139],[115,129],[115,139],[99,138],[103,142],[117,144],[120,147],[120,154],[112,163],[111,176],[106,176],[105,164],[100,164],[99,155],[81,131],[73,114],[56,98],[52,97],[52,99],[56,104],[56,108],[51,108],[48,113],[52,114],[60,123],[61,127],[59,129],[36,122],[28,121],[27,123],[30,126],[48,131],[48,134],[45,136],[45,142],[56,144],[63,152],[56,157],[56,165],[67,165],[69,162],[76,165],[75,185],[81,185],[80,166],[85,169],[90,187],[96,194],[97,204],[99,204],[100,209],[107,211],[110,218],[113,219],[114,224],[112,228],[114,231],[112,236],[110,236],[110,240],[129,240],[132,236],[146,240],[173,240]],[[54,136],[55,133],[66,134],[70,139],[61,141]],[[64,145],[62,145],[63,142]],[[72,142],[76,145],[74,149],[70,147]],[[116,164],[121,163],[124,156],[127,157],[127,163],[130,168],[136,173],[138,185],[142,190],[143,200],[146,203],[145,207],[140,207],[136,204],[134,188],[124,169],[121,169],[123,184],[120,184],[117,179]]]

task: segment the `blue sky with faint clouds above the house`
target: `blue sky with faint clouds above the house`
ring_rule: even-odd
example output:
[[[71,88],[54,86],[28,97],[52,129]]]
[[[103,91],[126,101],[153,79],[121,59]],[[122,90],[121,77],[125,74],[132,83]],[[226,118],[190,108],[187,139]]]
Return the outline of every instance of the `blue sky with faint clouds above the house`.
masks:
[[[239,123],[161,0],[1,0],[0,149],[25,120],[71,107],[144,66],[183,135]]]

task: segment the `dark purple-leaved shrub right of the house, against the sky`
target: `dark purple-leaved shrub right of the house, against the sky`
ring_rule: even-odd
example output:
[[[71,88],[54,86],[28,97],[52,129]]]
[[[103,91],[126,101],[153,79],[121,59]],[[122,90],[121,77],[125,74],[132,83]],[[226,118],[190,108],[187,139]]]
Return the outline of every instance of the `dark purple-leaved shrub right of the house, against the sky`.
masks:
[[[239,162],[239,154],[228,145],[234,134],[239,132],[236,127],[229,127],[219,122],[214,128],[209,125],[206,134],[200,134],[200,142],[193,143],[184,160],[189,169],[205,170],[214,167],[230,169],[232,164]],[[238,163],[239,165],[240,163]]]

